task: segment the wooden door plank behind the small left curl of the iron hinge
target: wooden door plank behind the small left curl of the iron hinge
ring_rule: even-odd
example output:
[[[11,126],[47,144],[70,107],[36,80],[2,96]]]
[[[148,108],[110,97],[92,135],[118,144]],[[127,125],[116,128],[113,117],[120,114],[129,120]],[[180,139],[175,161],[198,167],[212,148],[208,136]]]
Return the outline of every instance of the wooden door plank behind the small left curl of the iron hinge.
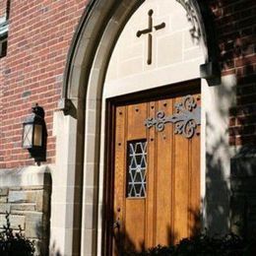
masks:
[[[159,103],[159,111],[165,116],[172,114],[172,99],[163,99]],[[162,132],[158,132],[156,149],[157,160],[157,200],[156,200],[156,241],[155,244],[168,244],[171,237],[171,161],[172,161],[172,132],[173,126],[166,124]]]

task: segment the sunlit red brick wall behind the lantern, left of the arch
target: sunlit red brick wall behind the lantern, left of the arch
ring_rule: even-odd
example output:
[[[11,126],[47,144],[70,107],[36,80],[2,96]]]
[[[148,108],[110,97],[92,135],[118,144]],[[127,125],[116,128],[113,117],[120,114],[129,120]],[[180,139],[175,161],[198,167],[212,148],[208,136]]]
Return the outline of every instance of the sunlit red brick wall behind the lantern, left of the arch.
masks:
[[[53,111],[70,42],[87,2],[11,1],[8,53],[0,59],[0,168],[32,163],[21,149],[22,123],[35,102],[45,110],[47,162],[54,161]]]

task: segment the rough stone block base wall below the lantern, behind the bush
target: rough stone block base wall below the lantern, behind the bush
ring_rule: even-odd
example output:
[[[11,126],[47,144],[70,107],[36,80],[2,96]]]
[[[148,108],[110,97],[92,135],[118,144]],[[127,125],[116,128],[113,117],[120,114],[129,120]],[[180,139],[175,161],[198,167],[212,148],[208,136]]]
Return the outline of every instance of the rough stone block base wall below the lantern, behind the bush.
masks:
[[[48,166],[0,169],[0,230],[6,213],[14,231],[34,240],[35,255],[48,255],[51,174]]]

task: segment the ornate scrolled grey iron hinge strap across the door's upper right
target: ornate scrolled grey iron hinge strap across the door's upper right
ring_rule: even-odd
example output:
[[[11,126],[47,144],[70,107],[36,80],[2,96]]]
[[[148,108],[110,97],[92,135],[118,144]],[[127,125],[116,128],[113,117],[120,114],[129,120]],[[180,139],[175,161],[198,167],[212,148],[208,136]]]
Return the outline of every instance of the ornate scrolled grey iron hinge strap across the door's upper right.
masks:
[[[197,126],[201,124],[201,106],[198,106],[193,96],[184,96],[181,102],[175,103],[175,112],[173,115],[165,116],[160,110],[156,118],[147,118],[145,126],[156,129],[161,132],[166,123],[174,124],[174,134],[180,134],[185,138],[192,138]]]

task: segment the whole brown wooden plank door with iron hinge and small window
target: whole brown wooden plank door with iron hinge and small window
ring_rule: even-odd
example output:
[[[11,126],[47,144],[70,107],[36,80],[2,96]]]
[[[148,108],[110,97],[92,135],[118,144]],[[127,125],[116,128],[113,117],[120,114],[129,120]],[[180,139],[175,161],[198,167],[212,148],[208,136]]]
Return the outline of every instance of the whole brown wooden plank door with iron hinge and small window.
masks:
[[[146,98],[111,105],[108,255],[175,243],[200,226],[199,85]]]

